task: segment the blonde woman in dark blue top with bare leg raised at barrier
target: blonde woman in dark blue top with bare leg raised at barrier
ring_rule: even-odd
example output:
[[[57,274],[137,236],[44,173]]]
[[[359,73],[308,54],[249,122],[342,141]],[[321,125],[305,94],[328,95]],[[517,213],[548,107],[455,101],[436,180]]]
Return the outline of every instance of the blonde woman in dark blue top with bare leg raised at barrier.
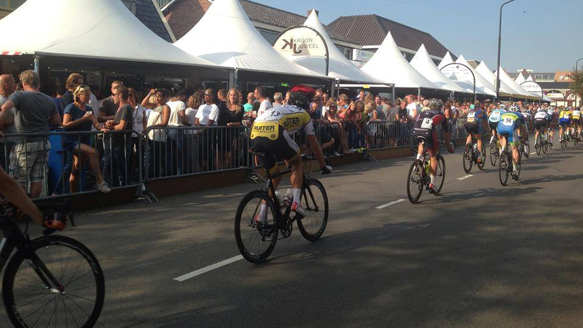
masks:
[[[87,85],[80,85],[73,91],[73,103],[65,107],[63,115],[63,130],[65,131],[91,131],[93,126],[97,130],[105,129],[97,117],[93,115],[93,108],[86,105],[89,102],[91,90]],[[79,189],[79,172],[83,164],[89,164],[89,170],[95,176],[97,190],[108,193],[111,189],[103,180],[101,169],[99,168],[99,153],[91,146],[91,136],[89,134],[67,134],[65,136],[64,148],[73,156],[71,176],[69,176],[69,190],[76,193]]]

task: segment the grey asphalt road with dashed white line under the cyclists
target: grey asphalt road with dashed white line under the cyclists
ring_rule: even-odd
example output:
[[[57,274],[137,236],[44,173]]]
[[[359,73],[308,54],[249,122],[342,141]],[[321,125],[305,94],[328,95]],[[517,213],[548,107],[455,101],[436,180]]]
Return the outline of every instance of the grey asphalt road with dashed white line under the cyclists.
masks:
[[[266,263],[181,282],[238,255],[233,217],[254,184],[89,211],[62,234],[104,268],[97,327],[583,327],[582,160],[583,146],[556,144],[503,187],[489,162],[459,179],[458,149],[442,195],[415,205],[412,158],[342,166],[316,175],[330,201],[321,240],[294,229]]]

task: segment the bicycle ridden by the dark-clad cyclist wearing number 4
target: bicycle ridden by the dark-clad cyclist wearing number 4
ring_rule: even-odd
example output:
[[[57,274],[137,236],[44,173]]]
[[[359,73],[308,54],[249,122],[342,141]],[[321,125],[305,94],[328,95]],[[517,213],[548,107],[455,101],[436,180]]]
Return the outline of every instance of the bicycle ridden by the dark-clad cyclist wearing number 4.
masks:
[[[413,204],[419,201],[423,189],[429,190],[429,193],[433,193],[429,189],[429,184],[431,182],[429,177],[429,171],[431,168],[431,159],[425,148],[425,138],[417,137],[417,140],[423,144],[423,155],[420,159],[415,159],[409,168],[409,173],[407,175],[407,197],[409,201]],[[440,141],[440,144],[443,142]],[[437,155],[437,169],[436,169],[436,183],[438,195],[441,192],[443,183],[445,181],[445,159],[441,156],[441,153]]]

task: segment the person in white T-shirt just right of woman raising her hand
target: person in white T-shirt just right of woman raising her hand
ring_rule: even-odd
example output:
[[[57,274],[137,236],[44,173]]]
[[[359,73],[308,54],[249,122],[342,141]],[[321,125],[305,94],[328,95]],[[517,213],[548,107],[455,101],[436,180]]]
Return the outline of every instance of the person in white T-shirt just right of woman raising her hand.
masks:
[[[184,139],[183,130],[180,127],[189,126],[188,118],[186,117],[186,90],[176,88],[174,95],[170,97],[170,101],[166,104],[170,107],[170,119],[168,120],[168,139],[166,141],[166,164],[170,166],[171,175],[181,175],[184,162],[186,160],[184,155]]]

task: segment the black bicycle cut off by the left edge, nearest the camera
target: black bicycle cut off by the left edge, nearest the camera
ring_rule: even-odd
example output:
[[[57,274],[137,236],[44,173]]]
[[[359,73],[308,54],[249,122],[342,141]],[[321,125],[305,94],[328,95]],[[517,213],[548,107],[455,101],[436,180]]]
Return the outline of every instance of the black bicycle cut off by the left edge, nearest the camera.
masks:
[[[103,271],[85,245],[65,236],[43,235],[30,239],[28,222],[24,231],[12,204],[0,204],[0,271],[6,265],[2,297],[10,322],[15,327],[90,328],[96,323],[105,295]],[[70,201],[37,204],[49,218],[72,219]],[[12,251],[16,253],[10,257]],[[52,313],[51,313],[52,312]]]

